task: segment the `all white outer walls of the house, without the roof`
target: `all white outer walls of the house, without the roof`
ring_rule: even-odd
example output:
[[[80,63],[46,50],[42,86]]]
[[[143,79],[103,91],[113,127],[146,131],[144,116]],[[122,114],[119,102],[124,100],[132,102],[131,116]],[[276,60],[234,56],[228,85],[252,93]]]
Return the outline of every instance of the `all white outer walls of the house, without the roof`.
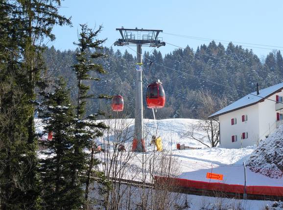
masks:
[[[273,133],[278,125],[276,111],[276,95],[283,97],[283,92],[275,93],[268,99],[255,105],[247,106],[219,116],[220,147],[241,148],[253,146]],[[247,115],[248,120],[242,122],[242,115]],[[236,125],[231,125],[231,119],[236,118]],[[283,122],[283,121],[282,121]],[[241,139],[241,134],[248,132],[247,139]],[[237,135],[237,141],[232,142],[232,136]]]

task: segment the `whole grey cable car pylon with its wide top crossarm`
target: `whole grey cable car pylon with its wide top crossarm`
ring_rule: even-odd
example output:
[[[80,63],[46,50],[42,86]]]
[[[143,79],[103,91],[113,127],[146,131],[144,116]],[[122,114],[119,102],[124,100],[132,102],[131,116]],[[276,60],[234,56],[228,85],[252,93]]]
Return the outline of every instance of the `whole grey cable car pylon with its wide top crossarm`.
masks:
[[[163,30],[151,29],[129,29],[116,28],[120,32],[121,39],[114,43],[115,46],[124,46],[129,44],[137,45],[137,65],[136,65],[136,107],[135,107],[135,133],[132,145],[132,151],[145,152],[145,145],[143,139],[143,106],[142,106],[142,45],[150,47],[165,46],[158,38],[160,32]]]

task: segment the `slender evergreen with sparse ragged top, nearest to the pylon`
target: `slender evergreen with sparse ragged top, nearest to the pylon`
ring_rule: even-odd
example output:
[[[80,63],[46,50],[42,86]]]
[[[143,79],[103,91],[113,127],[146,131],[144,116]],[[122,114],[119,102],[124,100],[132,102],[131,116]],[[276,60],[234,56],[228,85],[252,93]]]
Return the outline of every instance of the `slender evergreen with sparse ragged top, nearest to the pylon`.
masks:
[[[89,185],[91,181],[91,175],[93,169],[99,164],[99,161],[94,158],[94,152],[97,145],[94,142],[99,136],[102,136],[102,129],[106,126],[103,123],[96,123],[97,114],[85,116],[87,99],[107,98],[105,95],[89,95],[89,86],[83,84],[85,80],[99,80],[93,74],[105,73],[101,64],[93,63],[94,59],[103,57],[104,54],[101,52],[103,47],[101,46],[105,40],[98,40],[97,35],[101,31],[102,26],[94,31],[89,29],[87,25],[81,25],[81,32],[79,34],[79,42],[75,43],[78,46],[76,52],[77,63],[73,65],[73,70],[76,73],[78,96],[77,96],[77,122],[75,124],[75,144],[74,144],[74,155],[75,158],[71,165],[71,184],[72,186],[78,186],[80,183],[85,183],[85,202],[88,202]],[[91,51],[93,50],[93,51]],[[90,53],[89,53],[90,52]],[[93,76],[90,74],[92,73]],[[84,148],[90,148],[91,154],[86,154]],[[100,177],[102,183],[104,183],[103,174],[96,173],[96,176]],[[83,177],[86,178],[84,179]],[[78,196],[82,196],[78,193]]]

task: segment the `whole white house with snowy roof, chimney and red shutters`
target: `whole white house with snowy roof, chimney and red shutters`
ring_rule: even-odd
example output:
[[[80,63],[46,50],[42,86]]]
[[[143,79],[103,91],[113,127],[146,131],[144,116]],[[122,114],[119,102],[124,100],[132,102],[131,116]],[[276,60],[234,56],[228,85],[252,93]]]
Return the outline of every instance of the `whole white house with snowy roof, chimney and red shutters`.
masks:
[[[219,118],[220,147],[257,144],[283,123],[283,83],[253,92],[215,112]]]

